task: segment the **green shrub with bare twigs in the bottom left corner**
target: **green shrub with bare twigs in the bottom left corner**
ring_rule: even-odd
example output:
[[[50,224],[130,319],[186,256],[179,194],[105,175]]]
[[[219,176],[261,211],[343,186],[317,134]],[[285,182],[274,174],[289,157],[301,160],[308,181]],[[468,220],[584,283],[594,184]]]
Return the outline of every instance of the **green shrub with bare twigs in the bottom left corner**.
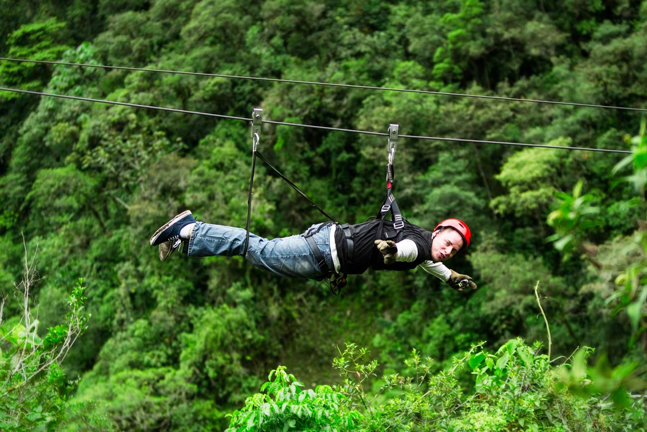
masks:
[[[89,321],[80,279],[67,298],[69,312],[64,323],[50,327],[45,337],[39,337],[39,321],[30,308],[33,271],[28,265],[19,285],[21,315],[3,321],[4,291],[0,306],[0,427],[8,430],[44,431],[65,418],[73,385],[65,377],[61,362],[87,330]]]

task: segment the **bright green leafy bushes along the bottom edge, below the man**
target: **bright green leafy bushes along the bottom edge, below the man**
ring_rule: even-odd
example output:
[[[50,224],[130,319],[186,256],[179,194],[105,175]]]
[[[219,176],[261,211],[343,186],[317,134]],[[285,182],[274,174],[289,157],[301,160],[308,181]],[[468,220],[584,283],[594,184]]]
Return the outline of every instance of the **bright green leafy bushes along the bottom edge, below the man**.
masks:
[[[494,354],[474,345],[454,365],[432,373],[432,359],[417,350],[404,361],[401,373],[385,374],[375,392],[366,390],[377,361],[364,363],[366,348],[347,343],[333,366],[344,383],[302,389],[303,383],[280,366],[272,370],[261,393],[247,398],[232,413],[227,431],[610,431],[642,430],[644,405],[629,397],[621,383],[633,389],[632,370],[609,372],[586,368],[580,350],[573,363],[551,366],[521,339],[510,339]],[[472,371],[474,389],[461,388],[457,374]],[[274,380],[272,380],[274,376]],[[591,381],[593,378],[594,380]],[[631,388],[631,387],[630,387]],[[570,390],[569,390],[570,389]],[[623,391],[624,399],[617,396]],[[388,394],[388,398],[380,395]],[[609,394],[611,404],[603,404]],[[617,402],[616,402],[617,401]]]

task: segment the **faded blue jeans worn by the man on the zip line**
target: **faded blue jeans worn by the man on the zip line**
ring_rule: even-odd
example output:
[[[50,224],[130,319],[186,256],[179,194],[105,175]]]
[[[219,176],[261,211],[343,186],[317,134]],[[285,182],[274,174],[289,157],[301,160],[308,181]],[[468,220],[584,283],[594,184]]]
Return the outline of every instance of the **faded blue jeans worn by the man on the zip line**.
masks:
[[[310,229],[316,229],[323,223],[316,223]],[[188,255],[243,255],[246,231],[242,228],[212,225],[197,222],[189,240]],[[333,268],[333,257],[330,252],[330,227],[322,227],[313,236],[329,268]],[[302,235],[267,240],[249,233],[247,260],[254,266],[269,270],[277,275],[319,279],[325,276],[317,266],[314,253]]]

